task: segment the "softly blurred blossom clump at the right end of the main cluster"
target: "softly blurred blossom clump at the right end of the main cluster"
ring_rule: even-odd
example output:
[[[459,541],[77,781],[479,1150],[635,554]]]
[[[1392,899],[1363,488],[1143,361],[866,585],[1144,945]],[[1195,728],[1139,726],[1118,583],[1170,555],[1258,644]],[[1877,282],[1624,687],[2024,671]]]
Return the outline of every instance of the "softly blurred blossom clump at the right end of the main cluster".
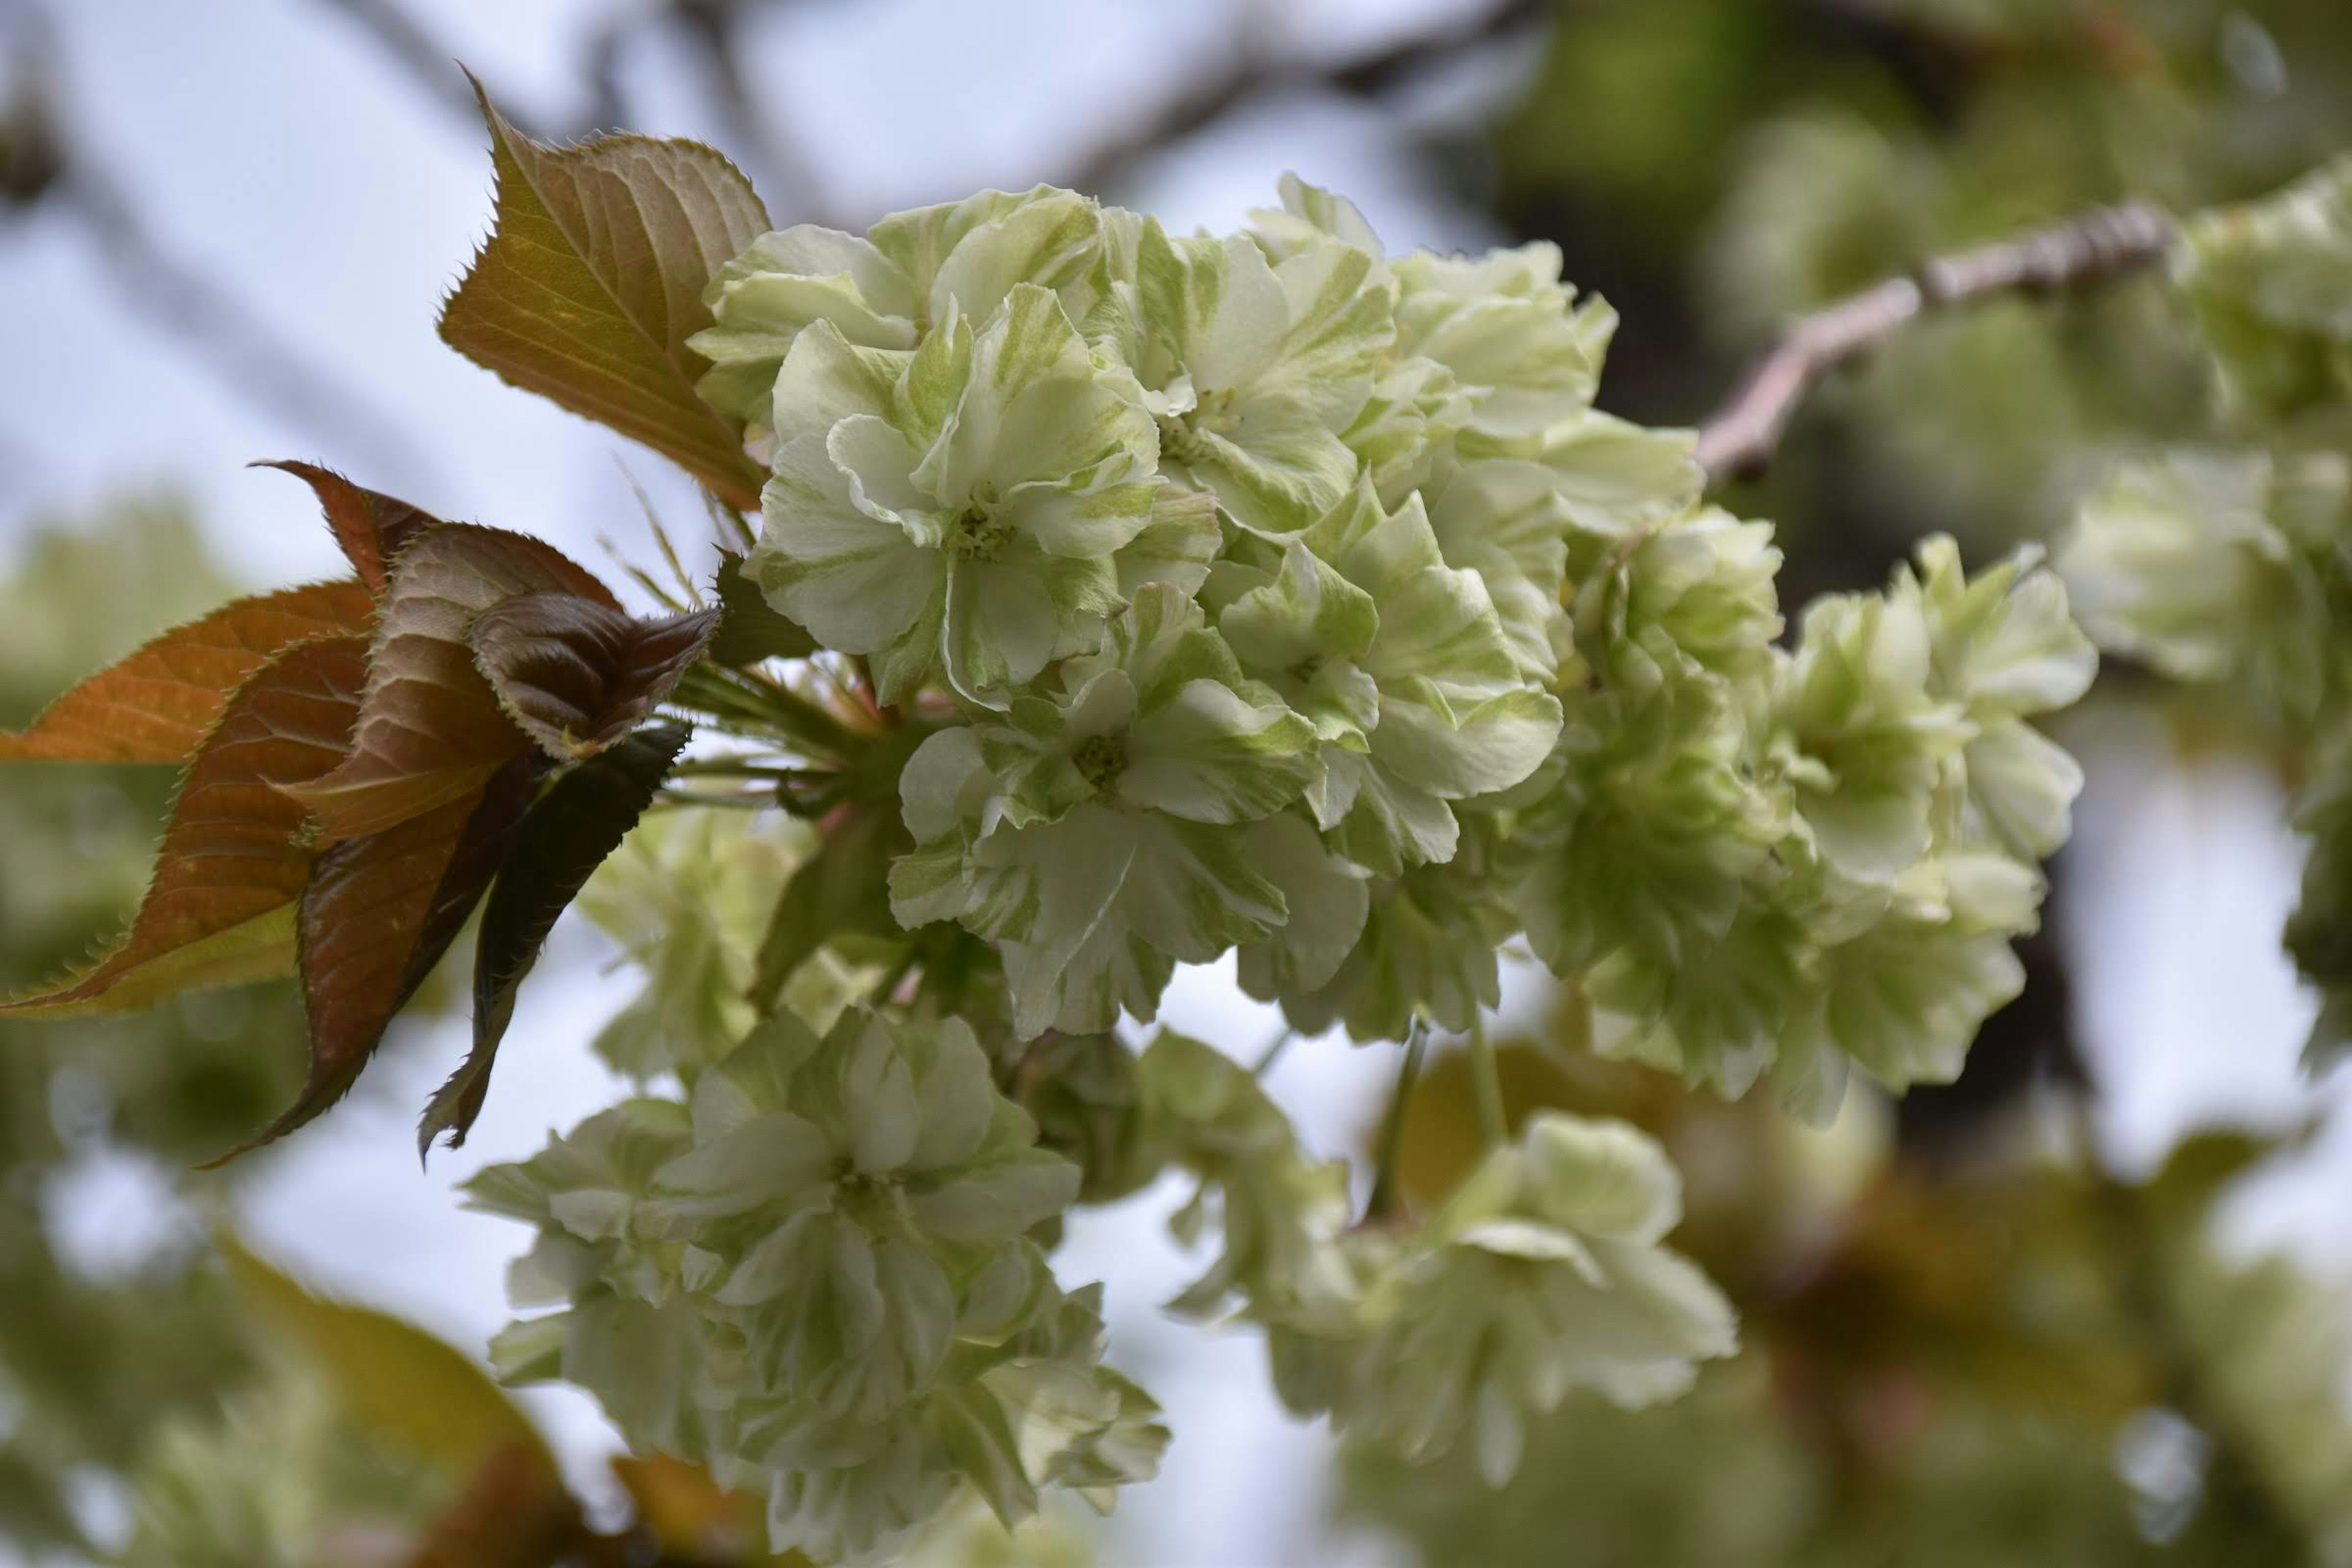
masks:
[[[1519,914],[1599,1051],[1724,1093],[1769,1079],[1828,1117],[1856,1070],[1950,1079],[2016,994],[2034,858],[2082,788],[2030,719],[2082,696],[2096,656],[2032,555],[1971,578],[1940,538],[1884,595],[1816,602],[1780,654],[1733,529],[1651,557],[1665,529],[1581,602],[1602,689],[1522,811]],[[1628,651],[1644,621],[1672,658]]]

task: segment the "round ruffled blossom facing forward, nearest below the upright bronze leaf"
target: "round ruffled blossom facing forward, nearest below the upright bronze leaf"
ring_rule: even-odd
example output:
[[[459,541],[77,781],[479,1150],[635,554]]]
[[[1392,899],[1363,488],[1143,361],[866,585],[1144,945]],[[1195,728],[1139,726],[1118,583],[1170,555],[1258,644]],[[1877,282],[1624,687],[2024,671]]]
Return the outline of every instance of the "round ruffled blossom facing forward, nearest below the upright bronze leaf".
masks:
[[[1117,604],[1112,555],[1152,520],[1157,456],[1037,284],[981,320],[950,301],[910,355],[818,322],[776,376],[753,571],[818,642],[875,656],[884,701],[938,672],[1000,705]]]

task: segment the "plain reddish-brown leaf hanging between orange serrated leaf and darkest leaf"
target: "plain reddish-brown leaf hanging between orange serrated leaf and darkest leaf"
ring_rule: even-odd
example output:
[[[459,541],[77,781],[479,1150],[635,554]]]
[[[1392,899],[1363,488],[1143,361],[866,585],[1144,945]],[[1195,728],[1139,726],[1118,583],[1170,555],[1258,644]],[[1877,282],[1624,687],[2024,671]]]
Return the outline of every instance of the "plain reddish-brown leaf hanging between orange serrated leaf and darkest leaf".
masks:
[[[216,1166],[285,1138],[358,1081],[393,1013],[482,900],[536,780],[539,759],[517,750],[489,788],[318,858],[296,917],[310,1077],[278,1121]]]

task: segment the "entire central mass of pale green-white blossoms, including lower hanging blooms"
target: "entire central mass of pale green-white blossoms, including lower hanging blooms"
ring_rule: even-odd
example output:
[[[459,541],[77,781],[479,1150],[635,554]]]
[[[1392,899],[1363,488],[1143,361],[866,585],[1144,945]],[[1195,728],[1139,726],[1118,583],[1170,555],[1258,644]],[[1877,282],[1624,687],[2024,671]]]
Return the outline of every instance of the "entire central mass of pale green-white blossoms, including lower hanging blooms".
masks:
[[[1364,1215],[1223,1051],[1120,1039],[1178,964],[1425,1044],[1524,933],[1595,1048],[1806,1114],[1950,1077],[2016,992],[2079,788],[2032,729],[2091,675],[2065,590],[1929,543],[1783,646],[1771,527],[1595,407],[1616,317],[1555,249],[1388,256],[1296,179],[1230,235],[1037,188],[767,235],[708,303],[703,393],[769,468],[746,576],[823,649],[814,764],[868,827],[896,783],[910,936],[863,1006],[809,964],[750,1018],[731,905],[633,924],[706,872],[614,872],[656,976],[621,1056],[682,1093],[475,1199],[539,1232],[499,1363],[762,1493],[776,1549],[884,1561],[1150,1474],[1155,1406],[1044,1248],[1169,1168],[1204,1253],[1171,1307],[1414,1458],[1503,1476],[1571,1387],[1729,1352],[1646,1138],[1538,1117],[1418,1222],[1392,1185]]]

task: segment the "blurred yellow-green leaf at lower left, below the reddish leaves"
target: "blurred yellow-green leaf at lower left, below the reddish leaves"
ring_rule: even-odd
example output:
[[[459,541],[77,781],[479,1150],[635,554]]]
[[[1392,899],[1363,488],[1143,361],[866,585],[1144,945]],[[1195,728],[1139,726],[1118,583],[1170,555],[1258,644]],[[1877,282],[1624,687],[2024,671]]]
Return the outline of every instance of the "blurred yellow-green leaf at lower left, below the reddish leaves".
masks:
[[[235,1241],[221,1255],[273,1338],[308,1352],[369,1432],[459,1479],[510,1450],[557,1474],[539,1429],[468,1356],[386,1312],[313,1295]]]

